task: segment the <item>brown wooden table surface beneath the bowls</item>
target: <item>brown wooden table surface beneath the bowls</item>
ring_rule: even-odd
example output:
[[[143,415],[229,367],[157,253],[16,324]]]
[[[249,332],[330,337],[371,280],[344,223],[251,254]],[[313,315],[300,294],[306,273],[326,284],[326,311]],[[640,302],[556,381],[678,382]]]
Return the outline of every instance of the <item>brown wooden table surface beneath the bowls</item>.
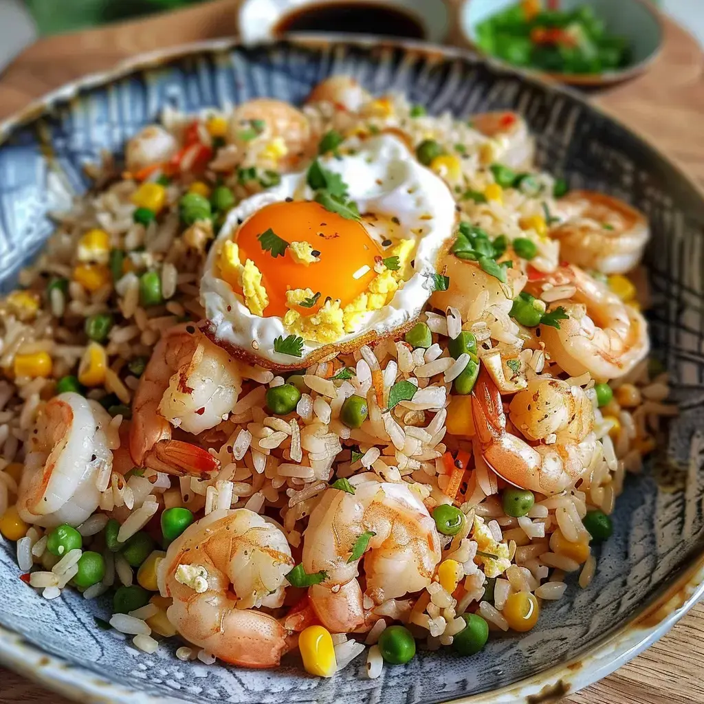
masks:
[[[137,23],[42,39],[0,76],[0,118],[67,81],[109,68],[122,58],[234,34],[237,4],[238,0],[217,0]],[[685,30],[665,20],[665,48],[658,63],[646,75],[594,100],[655,142],[704,184],[704,54]],[[704,605],[700,604],[646,653],[566,701],[704,704],[703,663]],[[0,681],[0,704],[68,704],[11,672],[0,669]]]

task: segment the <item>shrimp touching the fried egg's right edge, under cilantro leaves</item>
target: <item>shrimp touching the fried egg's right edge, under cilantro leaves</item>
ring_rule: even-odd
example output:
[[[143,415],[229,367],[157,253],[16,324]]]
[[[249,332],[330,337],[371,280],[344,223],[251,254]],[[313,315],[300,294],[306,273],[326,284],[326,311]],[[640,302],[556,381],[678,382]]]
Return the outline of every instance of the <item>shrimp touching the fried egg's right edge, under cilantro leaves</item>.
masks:
[[[450,285],[447,291],[436,291],[430,302],[439,310],[454,306],[460,311],[463,320],[472,320],[470,310],[479,296],[486,298],[484,308],[498,306],[508,313],[513,306],[513,299],[520,294],[527,281],[518,261],[512,269],[506,270],[505,284],[487,274],[477,262],[460,259],[452,253],[443,258],[439,268],[450,277]]]

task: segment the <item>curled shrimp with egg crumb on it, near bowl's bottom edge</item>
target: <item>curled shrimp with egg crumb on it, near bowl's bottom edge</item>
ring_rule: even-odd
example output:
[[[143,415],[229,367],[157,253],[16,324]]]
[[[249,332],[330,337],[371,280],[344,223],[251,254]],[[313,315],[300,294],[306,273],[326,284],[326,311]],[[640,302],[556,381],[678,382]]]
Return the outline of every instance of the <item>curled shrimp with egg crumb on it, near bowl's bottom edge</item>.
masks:
[[[295,646],[273,616],[256,610],[282,602],[294,567],[286,536],[246,508],[215,510],[191,524],[158,568],[166,615],[179,633],[220,660],[276,667]]]

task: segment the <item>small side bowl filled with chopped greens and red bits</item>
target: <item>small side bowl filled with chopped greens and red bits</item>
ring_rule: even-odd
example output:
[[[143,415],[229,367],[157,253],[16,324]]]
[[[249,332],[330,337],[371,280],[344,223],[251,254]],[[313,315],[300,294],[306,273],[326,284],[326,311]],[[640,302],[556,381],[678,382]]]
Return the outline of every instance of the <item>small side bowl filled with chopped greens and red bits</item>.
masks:
[[[663,34],[648,0],[465,0],[460,29],[482,54],[584,86],[642,73]]]

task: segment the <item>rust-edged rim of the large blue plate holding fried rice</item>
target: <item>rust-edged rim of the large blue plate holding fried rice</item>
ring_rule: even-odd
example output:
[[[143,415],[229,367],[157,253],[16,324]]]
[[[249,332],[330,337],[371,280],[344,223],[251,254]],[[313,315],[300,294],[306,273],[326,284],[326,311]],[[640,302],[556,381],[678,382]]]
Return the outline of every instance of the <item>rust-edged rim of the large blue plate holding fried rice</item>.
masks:
[[[643,1],[643,0],[639,0]],[[18,127],[39,118],[51,111],[59,101],[70,101],[80,92],[95,89],[127,77],[138,70],[159,69],[170,61],[189,58],[198,54],[218,54],[237,46],[251,49],[256,46],[294,46],[302,49],[316,49],[321,46],[358,46],[382,52],[400,49],[406,54],[417,54],[427,61],[470,60],[485,63],[490,68],[510,75],[517,75],[525,82],[535,84],[546,92],[569,96],[583,108],[603,115],[615,122],[623,130],[636,137],[645,149],[665,162],[681,180],[689,186],[693,195],[700,201],[704,212],[704,187],[698,184],[684,168],[672,161],[639,130],[627,127],[612,111],[596,106],[574,89],[557,84],[532,71],[521,70],[494,58],[483,56],[476,51],[439,46],[427,42],[414,42],[404,39],[380,39],[363,34],[289,34],[275,42],[245,44],[238,39],[211,39],[158,49],[139,54],[121,61],[110,70],[90,73],[68,82],[32,101],[22,110],[0,122],[0,146],[7,141]],[[652,645],[669,631],[686,612],[704,596],[704,551],[691,551],[682,560],[680,567],[666,583],[665,589],[643,605],[639,613],[632,615],[615,631],[596,639],[589,650],[570,661],[555,665],[529,677],[521,679],[485,693],[470,694],[446,704],[513,704],[523,701],[526,704],[548,704],[567,693],[574,693],[593,682],[615,672],[632,658]],[[97,674],[82,665],[74,665],[55,655],[45,653],[24,639],[21,634],[0,626],[0,665],[10,667],[23,676],[36,681],[47,689],[56,691],[74,700],[99,702],[100,704],[163,704],[182,703],[177,697],[151,695],[130,686],[118,684]]]

